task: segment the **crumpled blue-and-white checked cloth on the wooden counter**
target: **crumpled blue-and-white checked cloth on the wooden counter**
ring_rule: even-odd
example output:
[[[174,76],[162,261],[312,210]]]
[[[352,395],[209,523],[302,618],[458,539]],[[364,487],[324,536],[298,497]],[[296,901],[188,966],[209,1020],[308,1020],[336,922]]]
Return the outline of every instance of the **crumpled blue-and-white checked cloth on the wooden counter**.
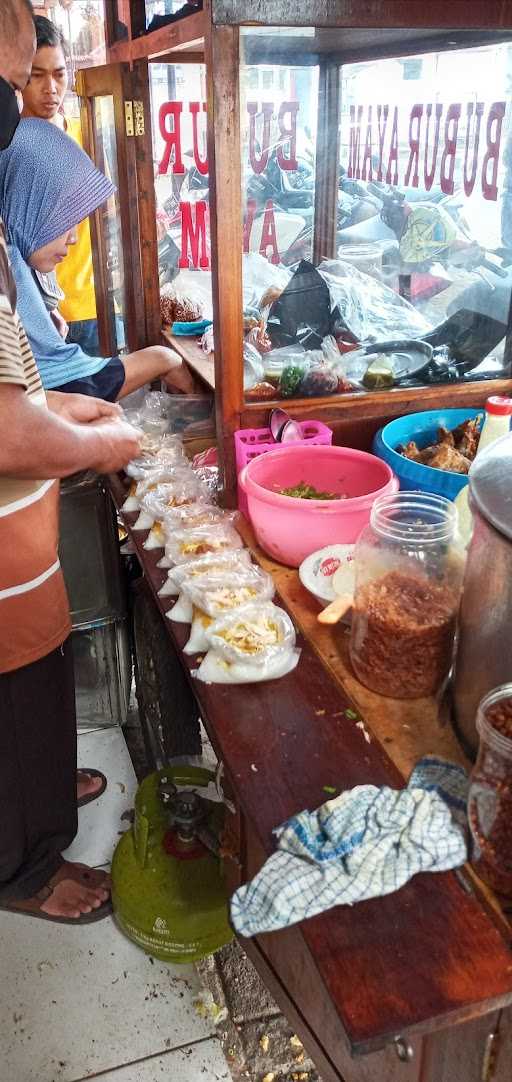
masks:
[[[357,786],[301,812],[274,831],[277,852],[234,894],[234,927],[241,936],[275,932],[464,863],[467,793],[462,767],[429,756],[406,789]]]

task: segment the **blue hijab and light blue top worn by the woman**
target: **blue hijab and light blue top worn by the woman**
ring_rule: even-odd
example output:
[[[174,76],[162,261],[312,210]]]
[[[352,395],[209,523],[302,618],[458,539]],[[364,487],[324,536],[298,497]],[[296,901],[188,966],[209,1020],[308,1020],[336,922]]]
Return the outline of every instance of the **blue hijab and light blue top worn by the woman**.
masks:
[[[114,190],[77,143],[48,120],[22,120],[0,154],[0,217],[17,311],[47,388],[92,375],[110,358],[91,357],[61,338],[27,261],[92,214]]]

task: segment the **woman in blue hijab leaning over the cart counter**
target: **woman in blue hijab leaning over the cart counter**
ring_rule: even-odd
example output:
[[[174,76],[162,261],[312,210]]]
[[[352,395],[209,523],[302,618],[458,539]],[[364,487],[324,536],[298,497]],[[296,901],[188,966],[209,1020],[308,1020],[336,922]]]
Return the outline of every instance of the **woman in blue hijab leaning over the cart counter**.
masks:
[[[163,346],[121,357],[92,357],[64,342],[34,270],[54,270],[76,241],[76,227],[114,193],[110,181],[63,131],[45,120],[22,120],[0,156],[0,217],[17,287],[17,311],[47,390],[117,401],[161,378],[184,393],[194,383],[181,358]]]

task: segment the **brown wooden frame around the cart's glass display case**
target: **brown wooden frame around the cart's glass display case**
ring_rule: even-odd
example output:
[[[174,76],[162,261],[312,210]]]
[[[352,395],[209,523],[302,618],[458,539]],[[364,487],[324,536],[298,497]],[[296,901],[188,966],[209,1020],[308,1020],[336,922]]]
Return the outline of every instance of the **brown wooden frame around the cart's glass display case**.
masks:
[[[420,0],[396,0],[362,5],[356,0],[205,0],[205,10],[152,34],[141,34],[144,25],[140,0],[130,0],[130,38],[116,42],[111,61],[128,62],[137,82],[137,95],[147,103],[144,90],[146,61],[207,64],[208,144],[210,159],[210,223],[215,317],[214,383],[216,425],[224,467],[226,502],[235,500],[233,433],[239,427],[259,427],[276,403],[247,403],[242,387],[241,342],[241,179],[239,127],[239,49],[242,25],[300,27],[315,26],[314,39],[304,39],[310,60],[319,65],[317,161],[315,190],[314,259],[334,254],[333,207],[337,198],[336,155],[329,143],[333,118],[338,115],[342,63],[375,56],[410,55],[425,49],[468,48],[482,41],[512,39],[512,0],[493,0],[467,5],[441,0],[425,6]],[[385,26],[383,27],[383,24]],[[332,32],[339,31],[336,55]],[[376,32],[378,31],[378,32]],[[136,37],[135,34],[140,36]],[[296,43],[299,39],[294,38]],[[297,44],[296,44],[297,48]],[[297,54],[296,54],[297,55]],[[279,60],[292,54],[286,49]],[[136,75],[139,70],[139,76]],[[211,72],[215,72],[212,78]],[[147,341],[158,330],[157,241],[153,223],[154,193],[149,173],[150,118],[146,110],[145,144],[136,151],[136,175],[141,185],[141,278],[145,282]],[[334,126],[336,127],[336,126]],[[329,154],[327,154],[329,150]],[[222,238],[218,245],[216,238]],[[134,238],[132,252],[135,258]],[[142,322],[141,322],[142,326]],[[173,342],[187,359],[191,345]],[[512,348],[512,347],[511,347]],[[509,353],[509,346],[507,347]],[[194,351],[196,352],[196,351]],[[417,409],[446,405],[481,406],[489,393],[510,392],[511,380],[489,380],[445,384],[376,394],[349,394],[329,398],[291,399],[287,408],[298,419],[315,417],[328,423],[334,439],[368,448],[375,431],[386,420]]]

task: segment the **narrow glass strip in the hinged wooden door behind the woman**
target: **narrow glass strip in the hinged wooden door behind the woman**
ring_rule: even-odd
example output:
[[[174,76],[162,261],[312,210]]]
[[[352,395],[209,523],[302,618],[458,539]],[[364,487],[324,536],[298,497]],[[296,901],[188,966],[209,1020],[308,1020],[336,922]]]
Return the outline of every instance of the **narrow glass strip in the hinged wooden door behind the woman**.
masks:
[[[116,124],[114,98],[93,98],[94,151],[99,169],[111,180],[116,193],[100,208],[104,266],[106,276],[106,303],[113,342],[117,352],[126,347],[124,327],[124,265],[122,258],[121,211],[119,206],[119,177],[117,171]]]

